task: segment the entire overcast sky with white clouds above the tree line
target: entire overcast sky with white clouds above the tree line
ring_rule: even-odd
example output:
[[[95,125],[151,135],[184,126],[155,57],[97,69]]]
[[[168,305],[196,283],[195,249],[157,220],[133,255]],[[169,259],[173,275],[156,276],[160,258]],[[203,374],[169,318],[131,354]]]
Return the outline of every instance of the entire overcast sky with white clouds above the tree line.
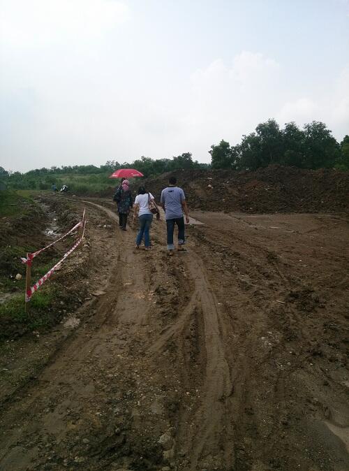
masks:
[[[349,134],[347,0],[0,0],[0,166],[192,152],[274,117]]]

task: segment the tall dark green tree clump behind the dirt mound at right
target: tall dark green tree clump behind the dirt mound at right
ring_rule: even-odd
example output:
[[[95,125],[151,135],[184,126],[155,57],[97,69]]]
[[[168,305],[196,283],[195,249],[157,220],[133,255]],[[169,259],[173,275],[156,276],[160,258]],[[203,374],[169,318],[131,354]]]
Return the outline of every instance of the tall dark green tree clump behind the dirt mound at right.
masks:
[[[349,136],[338,143],[325,123],[313,121],[299,129],[295,122],[283,129],[275,119],[260,123],[255,132],[242,136],[241,143],[221,140],[212,145],[212,168],[255,171],[270,164],[299,168],[349,169]]]

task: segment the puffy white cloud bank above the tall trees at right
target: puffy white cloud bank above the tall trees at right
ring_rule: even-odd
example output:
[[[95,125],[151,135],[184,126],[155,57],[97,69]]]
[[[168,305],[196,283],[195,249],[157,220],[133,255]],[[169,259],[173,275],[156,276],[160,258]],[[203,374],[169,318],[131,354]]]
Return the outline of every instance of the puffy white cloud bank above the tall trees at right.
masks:
[[[288,99],[292,95],[295,99]],[[235,144],[243,134],[273,117],[280,126],[290,121],[303,126],[320,120],[341,140],[349,131],[349,67],[325,93],[295,89],[285,64],[243,51],[232,59],[231,66],[217,59],[191,75],[186,110],[186,139],[195,143],[199,159],[207,159],[212,143],[224,138]]]

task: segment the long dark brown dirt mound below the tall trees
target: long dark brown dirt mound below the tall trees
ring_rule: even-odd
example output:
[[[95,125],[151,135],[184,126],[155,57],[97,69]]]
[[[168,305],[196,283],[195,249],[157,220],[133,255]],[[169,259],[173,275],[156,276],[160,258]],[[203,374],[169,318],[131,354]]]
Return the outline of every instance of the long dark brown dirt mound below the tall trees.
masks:
[[[159,199],[177,177],[191,208],[225,212],[348,212],[349,172],[269,166],[255,172],[176,171],[145,181]]]

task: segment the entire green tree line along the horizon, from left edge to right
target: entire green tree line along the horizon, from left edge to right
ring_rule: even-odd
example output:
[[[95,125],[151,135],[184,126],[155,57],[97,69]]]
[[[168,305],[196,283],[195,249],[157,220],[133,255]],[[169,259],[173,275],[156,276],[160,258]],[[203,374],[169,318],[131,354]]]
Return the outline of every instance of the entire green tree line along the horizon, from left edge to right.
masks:
[[[191,152],[172,159],[140,157],[131,164],[108,160],[104,165],[52,166],[36,168],[26,173],[6,171],[0,167],[0,180],[13,189],[48,189],[51,184],[69,182],[84,185],[84,189],[110,186],[110,173],[117,168],[137,168],[145,177],[161,175],[176,170],[231,168],[236,171],[255,171],[270,164],[299,168],[338,168],[349,170],[349,136],[338,143],[326,124],[313,121],[303,129],[295,122],[286,123],[283,129],[275,119],[260,123],[253,133],[242,136],[241,143],[230,145],[221,140],[211,145],[211,164],[193,160]],[[78,179],[75,180],[75,177]]]

